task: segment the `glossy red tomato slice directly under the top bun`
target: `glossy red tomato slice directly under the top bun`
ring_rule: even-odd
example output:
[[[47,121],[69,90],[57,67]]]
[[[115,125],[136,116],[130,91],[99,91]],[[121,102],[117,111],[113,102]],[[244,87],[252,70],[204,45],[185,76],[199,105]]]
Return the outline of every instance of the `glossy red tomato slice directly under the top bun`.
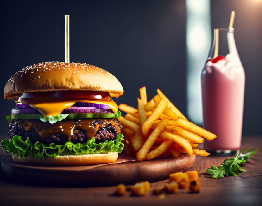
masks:
[[[54,91],[54,92],[28,92],[21,95],[20,99],[24,98],[80,98],[80,99],[108,99],[108,92],[94,91]]]

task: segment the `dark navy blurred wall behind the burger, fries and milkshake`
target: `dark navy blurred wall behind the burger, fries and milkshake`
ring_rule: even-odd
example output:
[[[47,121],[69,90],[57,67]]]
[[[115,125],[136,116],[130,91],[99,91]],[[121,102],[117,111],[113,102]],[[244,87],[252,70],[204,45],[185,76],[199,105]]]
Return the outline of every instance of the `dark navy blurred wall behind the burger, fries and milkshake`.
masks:
[[[227,27],[236,11],[235,40],[246,72],[244,134],[262,134],[262,3],[211,0],[212,28]],[[5,1],[1,3],[1,81],[37,62],[64,61],[64,14],[70,15],[70,61],[106,69],[124,87],[117,104],[137,105],[159,87],[186,112],[185,1]],[[211,43],[211,42],[210,42]],[[207,51],[208,55],[208,51]],[[203,62],[204,66],[204,62]],[[200,74],[199,74],[200,75]],[[15,107],[1,100],[5,116]]]

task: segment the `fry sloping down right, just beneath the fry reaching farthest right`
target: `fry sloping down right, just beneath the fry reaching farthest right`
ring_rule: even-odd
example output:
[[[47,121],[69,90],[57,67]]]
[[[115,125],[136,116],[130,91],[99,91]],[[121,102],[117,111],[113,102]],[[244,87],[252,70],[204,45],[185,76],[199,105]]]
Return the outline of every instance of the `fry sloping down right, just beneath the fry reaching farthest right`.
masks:
[[[176,135],[179,135],[183,138],[186,138],[186,139],[189,139],[195,143],[203,143],[204,141],[204,138],[192,133],[192,132],[189,132],[181,127],[175,127],[175,128],[171,128],[172,126],[167,126],[166,127],[166,130],[173,133],[173,134],[176,134]]]

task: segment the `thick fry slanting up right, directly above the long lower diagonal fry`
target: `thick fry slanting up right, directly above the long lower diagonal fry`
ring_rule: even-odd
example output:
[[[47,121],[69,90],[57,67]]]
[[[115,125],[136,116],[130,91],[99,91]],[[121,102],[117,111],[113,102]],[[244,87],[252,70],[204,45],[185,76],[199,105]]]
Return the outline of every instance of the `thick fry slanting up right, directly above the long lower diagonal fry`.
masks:
[[[143,135],[146,136],[148,134],[149,129],[154,124],[154,122],[158,119],[158,117],[163,113],[163,111],[167,108],[168,103],[161,98],[158,106],[152,112],[152,114],[146,119],[146,121],[142,125]]]

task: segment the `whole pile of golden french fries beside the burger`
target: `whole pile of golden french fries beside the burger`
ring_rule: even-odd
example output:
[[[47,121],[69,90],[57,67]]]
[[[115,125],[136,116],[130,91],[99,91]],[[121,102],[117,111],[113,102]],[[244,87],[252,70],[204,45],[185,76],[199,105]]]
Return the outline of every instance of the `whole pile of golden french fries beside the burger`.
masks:
[[[204,138],[213,140],[216,135],[188,121],[159,89],[149,102],[146,87],[139,91],[137,109],[126,104],[118,106],[126,113],[119,121],[128,155],[136,155],[139,161],[169,155],[178,157],[180,153],[210,155],[196,147]]]

